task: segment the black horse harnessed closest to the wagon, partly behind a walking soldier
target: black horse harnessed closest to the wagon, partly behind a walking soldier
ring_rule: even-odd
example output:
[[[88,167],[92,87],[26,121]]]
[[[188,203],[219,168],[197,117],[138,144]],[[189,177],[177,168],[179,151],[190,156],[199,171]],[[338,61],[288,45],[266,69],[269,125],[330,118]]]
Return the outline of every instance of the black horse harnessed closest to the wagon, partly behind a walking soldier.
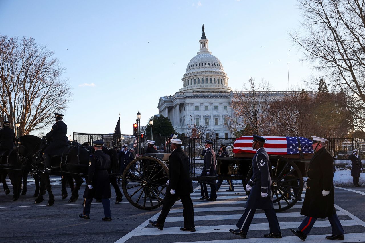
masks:
[[[90,147],[87,148],[91,150]],[[52,193],[51,184],[49,180],[50,175],[66,175],[68,176],[68,178],[72,177],[72,179],[75,180],[76,185],[72,190],[72,195],[70,197],[69,202],[76,202],[79,196],[78,190],[80,189],[80,186],[84,182],[84,180],[82,180],[81,177],[85,177],[87,180],[89,156],[92,153],[87,148],[85,148],[81,144],[65,147],[65,150],[63,151],[62,155],[51,157],[51,167],[52,167],[51,173],[39,173],[41,182],[45,184],[45,187],[49,194],[49,200],[47,202],[47,205],[51,206],[54,204],[54,195]],[[112,170],[117,171],[117,173],[119,173],[118,157],[116,151],[105,147],[103,147],[103,151],[105,151],[107,154],[111,156]],[[39,162],[35,163],[35,166],[38,167],[39,171],[42,171],[44,169],[44,165],[42,163]],[[71,184],[73,185],[73,180],[68,179],[70,185]],[[64,183],[65,181],[62,182],[62,188],[65,188]],[[121,201],[122,192],[120,192],[119,187],[118,190],[120,194],[118,193],[117,190],[116,193],[117,196],[120,197]],[[67,197],[67,192],[64,189],[62,189],[62,199],[66,197]],[[43,201],[43,195],[39,194],[34,203],[41,203],[42,201]]]

